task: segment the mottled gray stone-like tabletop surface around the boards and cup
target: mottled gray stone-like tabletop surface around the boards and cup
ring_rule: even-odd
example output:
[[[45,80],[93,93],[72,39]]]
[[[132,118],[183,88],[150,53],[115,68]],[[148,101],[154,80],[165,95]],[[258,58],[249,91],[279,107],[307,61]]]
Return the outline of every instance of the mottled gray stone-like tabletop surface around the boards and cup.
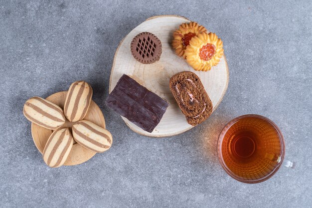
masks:
[[[0,207],[311,208],[311,13],[309,0],[0,0]],[[153,139],[132,132],[104,99],[118,43],[161,14],[216,32],[230,81],[202,125]],[[48,168],[23,104],[81,79],[94,89],[113,147],[79,166]],[[281,168],[255,185],[223,171],[217,136],[226,122],[249,113],[278,124],[296,169]]]

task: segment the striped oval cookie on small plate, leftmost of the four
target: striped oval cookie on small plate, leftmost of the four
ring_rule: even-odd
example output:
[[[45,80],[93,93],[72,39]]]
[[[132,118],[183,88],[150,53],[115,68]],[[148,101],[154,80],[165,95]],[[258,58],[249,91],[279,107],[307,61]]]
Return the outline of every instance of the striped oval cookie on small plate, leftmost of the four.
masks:
[[[58,129],[65,123],[63,110],[40,97],[27,100],[23,112],[26,119],[47,129]]]

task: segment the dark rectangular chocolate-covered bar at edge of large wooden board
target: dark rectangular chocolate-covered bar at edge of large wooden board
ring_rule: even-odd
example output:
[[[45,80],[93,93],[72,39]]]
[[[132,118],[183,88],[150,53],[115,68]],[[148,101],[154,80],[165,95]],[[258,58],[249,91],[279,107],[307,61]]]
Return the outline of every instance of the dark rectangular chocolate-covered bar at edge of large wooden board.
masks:
[[[124,74],[106,105],[147,132],[153,132],[169,103]]]

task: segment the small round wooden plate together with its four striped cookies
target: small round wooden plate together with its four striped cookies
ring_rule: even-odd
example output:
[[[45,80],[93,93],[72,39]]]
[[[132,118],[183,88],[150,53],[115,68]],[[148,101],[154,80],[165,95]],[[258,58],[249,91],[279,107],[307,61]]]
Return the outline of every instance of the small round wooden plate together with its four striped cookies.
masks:
[[[105,129],[103,114],[92,101],[92,94],[87,82],[77,81],[68,92],[26,101],[24,115],[32,122],[34,143],[49,167],[78,165],[111,147],[112,135]]]

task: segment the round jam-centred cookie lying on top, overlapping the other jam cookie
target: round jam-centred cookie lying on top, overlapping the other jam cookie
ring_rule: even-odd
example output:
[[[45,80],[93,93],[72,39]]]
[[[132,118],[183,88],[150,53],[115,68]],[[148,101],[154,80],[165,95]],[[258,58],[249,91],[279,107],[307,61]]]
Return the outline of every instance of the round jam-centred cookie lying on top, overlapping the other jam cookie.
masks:
[[[196,71],[209,71],[223,56],[223,43],[215,33],[201,33],[189,41],[186,61]]]

